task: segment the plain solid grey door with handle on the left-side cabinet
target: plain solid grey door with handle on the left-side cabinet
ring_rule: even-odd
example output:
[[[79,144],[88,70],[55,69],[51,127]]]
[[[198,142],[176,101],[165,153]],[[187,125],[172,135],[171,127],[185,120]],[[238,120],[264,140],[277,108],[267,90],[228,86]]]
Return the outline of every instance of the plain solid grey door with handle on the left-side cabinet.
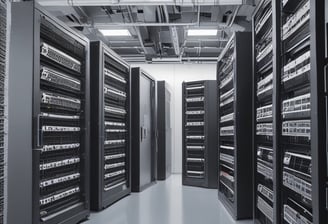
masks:
[[[140,76],[140,186],[152,177],[152,116],[151,80]]]

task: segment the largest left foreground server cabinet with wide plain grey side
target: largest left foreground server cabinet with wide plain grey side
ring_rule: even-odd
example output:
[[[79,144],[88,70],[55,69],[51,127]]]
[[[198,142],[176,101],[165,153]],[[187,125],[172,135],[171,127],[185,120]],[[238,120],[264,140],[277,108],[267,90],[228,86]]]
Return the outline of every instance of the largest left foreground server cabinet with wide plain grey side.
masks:
[[[12,3],[8,223],[89,215],[89,43],[34,2]]]

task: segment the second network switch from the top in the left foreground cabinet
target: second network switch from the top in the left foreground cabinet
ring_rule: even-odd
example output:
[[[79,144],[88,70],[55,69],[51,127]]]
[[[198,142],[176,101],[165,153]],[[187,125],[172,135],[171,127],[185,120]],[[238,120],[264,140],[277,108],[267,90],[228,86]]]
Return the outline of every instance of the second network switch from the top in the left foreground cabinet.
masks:
[[[51,84],[59,85],[65,88],[70,88],[76,91],[81,90],[81,81],[65,75],[61,72],[55,71],[48,67],[41,68],[41,80],[47,81]]]

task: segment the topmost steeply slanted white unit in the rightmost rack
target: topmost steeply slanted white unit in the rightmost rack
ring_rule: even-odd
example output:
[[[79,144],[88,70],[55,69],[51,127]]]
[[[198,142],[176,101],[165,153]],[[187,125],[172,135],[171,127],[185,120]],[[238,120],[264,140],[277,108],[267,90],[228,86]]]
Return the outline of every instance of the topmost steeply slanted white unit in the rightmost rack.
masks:
[[[310,1],[306,3],[287,19],[282,29],[283,40],[293,35],[300,27],[310,20]]]

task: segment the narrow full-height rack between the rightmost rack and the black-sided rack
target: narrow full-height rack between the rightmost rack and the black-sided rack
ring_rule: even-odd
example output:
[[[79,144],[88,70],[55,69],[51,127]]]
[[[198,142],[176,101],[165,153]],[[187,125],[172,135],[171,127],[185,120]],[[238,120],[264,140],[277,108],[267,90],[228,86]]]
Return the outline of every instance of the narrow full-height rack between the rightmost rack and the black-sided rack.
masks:
[[[261,1],[253,15],[253,171],[255,223],[271,224],[277,207],[275,177],[273,1]]]

